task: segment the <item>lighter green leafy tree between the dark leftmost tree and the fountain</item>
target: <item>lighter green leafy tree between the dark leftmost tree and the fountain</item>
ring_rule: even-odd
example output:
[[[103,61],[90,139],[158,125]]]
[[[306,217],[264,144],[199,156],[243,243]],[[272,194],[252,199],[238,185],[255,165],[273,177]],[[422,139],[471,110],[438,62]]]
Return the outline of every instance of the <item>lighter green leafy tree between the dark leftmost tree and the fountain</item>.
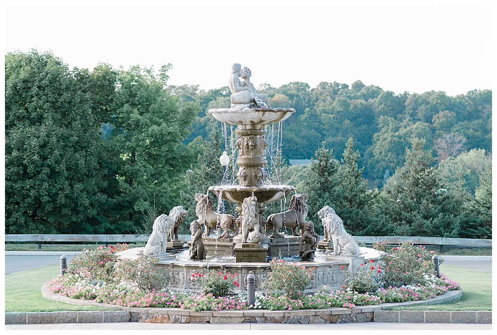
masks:
[[[154,196],[163,210],[177,206],[171,181],[186,170],[191,157],[182,145],[200,111],[198,102],[178,103],[166,89],[167,71],[133,66],[120,70],[116,108],[109,138],[120,157],[117,180],[122,192],[118,218],[134,230]],[[135,213],[139,215],[135,215]]]

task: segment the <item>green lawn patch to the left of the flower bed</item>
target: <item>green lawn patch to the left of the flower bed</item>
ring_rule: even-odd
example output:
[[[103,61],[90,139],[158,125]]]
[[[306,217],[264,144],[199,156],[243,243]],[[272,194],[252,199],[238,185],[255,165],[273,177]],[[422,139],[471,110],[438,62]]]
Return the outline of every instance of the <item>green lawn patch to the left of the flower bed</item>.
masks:
[[[59,264],[5,275],[5,312],[100,311],[108,308],[75,306],[43,298],[41,287],[60,273]]]

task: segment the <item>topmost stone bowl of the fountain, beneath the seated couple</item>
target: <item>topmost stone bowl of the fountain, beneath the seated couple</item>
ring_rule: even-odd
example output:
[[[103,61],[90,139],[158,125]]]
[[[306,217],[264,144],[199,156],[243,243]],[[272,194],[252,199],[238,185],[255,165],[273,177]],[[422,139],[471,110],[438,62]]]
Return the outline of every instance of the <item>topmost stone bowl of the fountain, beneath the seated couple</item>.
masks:
[[[295,113],[293,108],[213,108],[209,109],[216,120],[233,125],[266,125],[286,120]]]

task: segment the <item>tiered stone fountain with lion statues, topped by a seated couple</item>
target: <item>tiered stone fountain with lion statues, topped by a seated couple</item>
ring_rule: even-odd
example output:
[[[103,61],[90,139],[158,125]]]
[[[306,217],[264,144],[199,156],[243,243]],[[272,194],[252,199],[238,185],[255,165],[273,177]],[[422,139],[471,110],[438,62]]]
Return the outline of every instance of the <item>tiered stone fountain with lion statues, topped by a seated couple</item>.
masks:
[[[158,266],[169,269],[171,279],[168,287],[183,291],[197,291],[197,283],[191,280],[195,272],[224,271],[237,274],[236,280],[243,283],[235,293],[246,291],[246,278],[255,276],[256,290],[260,290],[269,269],[266,257],[294,257],[299,265],[312,269],[314,282],[310,291],[323,286],[338,288],[344,283],[345,268],[356,273],[364,262],[364,253],[343,229],[341,219],[331,207],[325,206],[319,216],[325,228],[325,251],[318,249],[319,236],[314,232],[313,223],[306,221],[307,194],[297,194],[295,187],[289,185],[265,185],[267,173],[265,167],[266,126],[280,123],[295,113],[292,108],[271,108],[267,95],[259,94],[250,83],[250,70],[241,69],[234,64],[229,81],[231,107],[210,109],[208,112],[224,124],[236,125],[239,135],[236,146],[239,150],[237,173],[239,185],[210,186],[206,194],[197,193],[195,213],[197,220],[190,224],[191,241],[186,257],[175,259],[162,258]],[[240,81],[242,77],[244,81]],[[225,169],[225,173],[226,173]],[[209,192],[218,197],[218,202],[230,201],[237,204],[238,218],[230,214],[215,212],[209,199]],[[265,218],[266,204],[294,193],[290,208],[281,213],[273,213]],[[201,236],[201,226],[205,234]],[[279,230],[289,228],[291,237],[281,234]],[[211,230],[221,228],[222,234],[210,236]],[[272,234],[268,236],[271,232]],[[230,235],[230,231],[235,236]],[[302,237],[299,236],[302,235]],[[171,237],[172,240],[172,237]],[[332,240],[332,242],[330,241]],[[326,249],[333,246],[333,254]],[[136,257],[139,250],[123,251],[121,257]],[[319,256],[318,256],[319,253]],[[316,254],[316,257],[315,257]],[[228,260],[213,260],[213,256],[224,256]],[[300,255],[301,259],[297,259]],[[377,258],[377,254],[368,258]],[[202,260],[203,258],[206,258]]]

